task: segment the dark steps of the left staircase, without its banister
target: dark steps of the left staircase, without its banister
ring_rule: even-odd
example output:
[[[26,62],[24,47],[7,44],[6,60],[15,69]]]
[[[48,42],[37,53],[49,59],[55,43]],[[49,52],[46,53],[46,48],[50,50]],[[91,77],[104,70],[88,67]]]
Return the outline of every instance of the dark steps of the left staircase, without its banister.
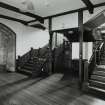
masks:
[[[18,72],[30,76],[38,76],[41,72],[43,72],[43,69],[41,67],[44,62],[44,58],[34,57],[32,59],[29,59],[28,62],[26,62],[24,66],[18,70]]]

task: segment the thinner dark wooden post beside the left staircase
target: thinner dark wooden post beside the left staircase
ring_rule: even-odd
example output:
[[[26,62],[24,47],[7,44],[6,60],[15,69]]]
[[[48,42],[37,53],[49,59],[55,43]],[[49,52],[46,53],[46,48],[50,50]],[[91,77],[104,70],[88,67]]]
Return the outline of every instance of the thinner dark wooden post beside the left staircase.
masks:
[[[52,18],[49,18],[49,50],[50,50],[50,60],[49,60],[49,75],[52,74],[53,71],[53,60],[52,60],[52,40],[53,40],[53,33],[52,33]]]

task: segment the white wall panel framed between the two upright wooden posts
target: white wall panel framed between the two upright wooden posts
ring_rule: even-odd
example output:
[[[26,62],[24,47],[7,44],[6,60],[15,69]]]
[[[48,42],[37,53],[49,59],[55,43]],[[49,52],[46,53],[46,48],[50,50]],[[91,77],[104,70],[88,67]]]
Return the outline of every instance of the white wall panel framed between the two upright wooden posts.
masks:
[[[78,27],[78,13],[53,18],[52,30]]]

